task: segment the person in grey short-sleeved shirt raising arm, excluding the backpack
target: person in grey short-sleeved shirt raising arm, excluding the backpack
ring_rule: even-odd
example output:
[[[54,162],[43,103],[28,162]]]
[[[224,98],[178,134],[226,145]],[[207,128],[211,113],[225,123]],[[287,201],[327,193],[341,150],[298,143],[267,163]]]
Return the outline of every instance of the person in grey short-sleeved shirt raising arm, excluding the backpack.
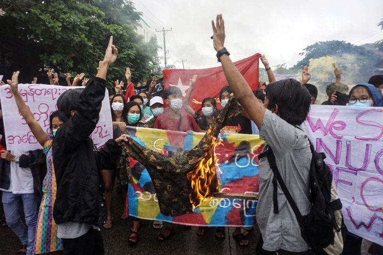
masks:
[[[259,136],[273,149],[276,164],[291,196],[302,215],[311,210],[309,169],[312,158],[307,134],[301,125],[310,110],[310,94],[298,81],[293,79],[270,83],[266,100],[256,99],[246,80],[237,70],[224,47],[225,26],[222,15],[211,21],[213,45],[216,57],[222,64],[223,72],[235,98],[249,118],[259,128]],[[300,228],[294,211],[287,204],[286,197],[278,185],[273,185],[273,174],[267,158],[259,162],[259,200],[257,224],[261,237],[256,254],[310,254],[310,247],[300,235]],[[278,189],[273,196],[274,188]],[[277,205],[274,208],[274,205]]]

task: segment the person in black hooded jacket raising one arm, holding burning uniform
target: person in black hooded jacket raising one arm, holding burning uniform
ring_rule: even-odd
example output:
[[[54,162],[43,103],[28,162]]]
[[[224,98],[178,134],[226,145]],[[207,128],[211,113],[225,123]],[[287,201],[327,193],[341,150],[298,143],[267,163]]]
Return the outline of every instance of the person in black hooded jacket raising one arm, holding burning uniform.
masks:
[[[57,194],[53,218],[58,225],[64,254],[104,254],[99,226],[104,220],[102,169],[113,169],[121,155],[126,135],[108,140],[96,151],[90,134],[96,128],[105,96],[106,73],[117,58],[113,37],[109,40],[96,77],[85,89],[68,90],[57,100],[57,108],[68,121],[56,132],[53,142]]]

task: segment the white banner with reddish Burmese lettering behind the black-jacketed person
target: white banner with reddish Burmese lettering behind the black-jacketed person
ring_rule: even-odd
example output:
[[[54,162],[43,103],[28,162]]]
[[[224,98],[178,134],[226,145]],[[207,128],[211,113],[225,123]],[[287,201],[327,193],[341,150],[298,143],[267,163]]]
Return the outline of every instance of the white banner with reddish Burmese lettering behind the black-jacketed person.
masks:
[[[50,133],[49,116],[57,110],[56,101],[58,97],[69,89],[84,87],[64,87],[42,84],[19,84],[18,91],[25,104],[33,113],[34,118],[40,126]],[[22,146],[24,150],[41,149],[42,147],[34,138],[28,125],[19,113],[16,102],[9,85],[0,87],[0,100],[2,116],[4,121],[4,131],[6,136],[6,146],[8,150]],[[95,144],[101,144],[113,138],[112,117],[108,92],[105,90],[105,98],[102,101],[100,120],[97,127],[91,134]]]

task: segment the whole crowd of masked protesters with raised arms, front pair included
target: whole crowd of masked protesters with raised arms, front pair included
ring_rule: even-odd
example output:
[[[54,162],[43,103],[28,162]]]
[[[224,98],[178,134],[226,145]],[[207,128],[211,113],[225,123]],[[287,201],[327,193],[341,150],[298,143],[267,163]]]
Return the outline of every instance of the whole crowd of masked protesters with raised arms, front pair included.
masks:
[[[224,46],[224,29],[222,31],[221,28],[222,23],[217,18],[216,26],[213,25],[214,48],[217,51]],[[311,75],[307,67],[302,70],[300,82],[292,79],[276,81],[264,55],[260,59],[267,72],[268,81],[260,81],[258,90],[251,91],[228,54],[222,54],[220,61],[228,86],[221,89],[218,100],[212,97],[204,98],[198,111],[190,106],[194,84],[198,79],[196,75],[191,77],[190,89],[184,99],[182,91],[177,87],[166,89],[163,97],[152,97],[157,78],[152,77],[148,92],[141,91],[136,95],[130,69],[127,68],[126,80],[115,81],[114,91],[110,91],[109,95],[114,139],[95,152],[89,134],[98,121],[105,93],[106,73],[117,54],[117,48],[111,38],[95,78],[89,79],[84,73],[80,73],[72,81],[71,75],[65,74],[66,86],[82,85],[84,88],[68,90],[59,97],[58,111],[52,113],[49,119],[50,133],[39,126],[22,100],[17,89],[19,72],[15,72],[12,79],[7,81],[19,112],[43,147],[42,150],[31,151],[22,148],[1,150],[2,163],[8,171],[7,178],[0,178],[3,210],[1,224],[3,227],[8,226],[19,238],[22,245],[17,252],[19,255],[103,254],[103,240],[99,228],[112,229],[112,215],[115,213],[122,214],[122,219],[129,217],[127,207],[124,212],[113,212],[111,203],[113,187],[128,199],[128,183],[132,181],[130,169],[120,166],[120,160],[125,158],[125,152],[121,150],[120,145],[127,139],[126,128],[206,132],[220,112],[217,105],[220,104],[224,108],[232,93],[244,111],[232,119],[228,126],[241,128],[223,128],[222,132],[259,134],[260,138],[273,147],[276,156],[291,157],[295,161],[300,160],[300,163],[306,166],[310,164],[307,160],[311,154],[307,150],[307,135],[295,126],[303,123],[310,104],[316,103],[317,87],[308,83]],[[367,83],[361,81],[362,83],[349,91],[349,87],[341,83],[342,72],[336,66],[334,74],[336,82],[327,86],[329,99],[322,105],[383,106],[383,75],[373,76]],[[59,85],[58,75],[53,69],[49,69],[47,75],[51,85]],[[37,78],[34,77],[31,83],[36,84]],[[147,83],[148,81],[144,80],[142,85]],[[136,87],[142,87],[141,83]],[[282,94],[293,95],[293,99],[283,98]],[[169,107],[164,107],[166,105]],[[276,128],[283,128],[283,132]],[[0,132],[1,145],[6,148],[2,118]],[[284,136],[283,139],[281,135]],[[299,142],[296,142],[297,139]],[[294,151],[301,151],[301,158],[297,159],[296,155],[292,154],[293,151],[286,150],[294,146]],[[286,168],[290,169],[292,165]],[[299,174],[302,180],[309,178],[308,172],[302,175],[294,174]],[[288,172],[285,176],[293,178]],[[270,176],[262,178],[271,180]],[[272,203],[269,196],[272,191],[269,184],[260,184],[260,197],[264,199],[259,201],[257,207],[257,224],[262,234],[257,245],[257,254],[274,254],[268,253],[269,251],[277,251],[278,254],[309,254],[310,247],[297,234],[300,231],[298,227],[292,224],[294,217],[291,216],[291,212],[284,208],[279,215],[270,213]],[[305,200],[308,188],[304,182],[299,183],[299,186],[304,188],[296,191],[296,198],[301,200],[302,211],[307,211],[310,206]],[[25,224],[19,213],[20,202]],[[280,222],[281,217],[286,214],[289,216],[282,220],[284,223],[280,226],[273,224]],[[133,220],[131,234],[127,236],[127,242],[132,247],[138,242],[141,223],[141,219]],[[163,227],[162,221],[154,221],[153,227],[163,229],[158,235],[159,241],[166,241],[175,234],[175,225],[172,223]],[[245,247],[249,245],[247,237],[252,231],[253,227],[235,228],[232,235],[239,246]],[[282,236],[282,233],[289,233],[289,237]],[[196,234],[204,235],[204,228],[199,227]],[[224,227],[216,228],[215,236],[225,239]],[[361,244],[362,238],[348,233],[343,254],[361,254]],[[375,254],[382,251],[379,250],[382,247],[376,246],[375,249]]]

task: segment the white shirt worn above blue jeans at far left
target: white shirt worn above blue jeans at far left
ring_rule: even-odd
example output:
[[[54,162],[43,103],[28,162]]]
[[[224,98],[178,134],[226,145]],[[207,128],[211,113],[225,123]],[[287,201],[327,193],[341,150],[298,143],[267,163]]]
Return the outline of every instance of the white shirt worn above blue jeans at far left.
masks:
[[[12,150],[10,154],[20,156],[28,155],[27,150]],[[33,193],[33,176],[30,168],[22,168],[18,163],[10,161],[10,184],[7,190],[2,191],[12,192],[13,194],[29,194]]]

